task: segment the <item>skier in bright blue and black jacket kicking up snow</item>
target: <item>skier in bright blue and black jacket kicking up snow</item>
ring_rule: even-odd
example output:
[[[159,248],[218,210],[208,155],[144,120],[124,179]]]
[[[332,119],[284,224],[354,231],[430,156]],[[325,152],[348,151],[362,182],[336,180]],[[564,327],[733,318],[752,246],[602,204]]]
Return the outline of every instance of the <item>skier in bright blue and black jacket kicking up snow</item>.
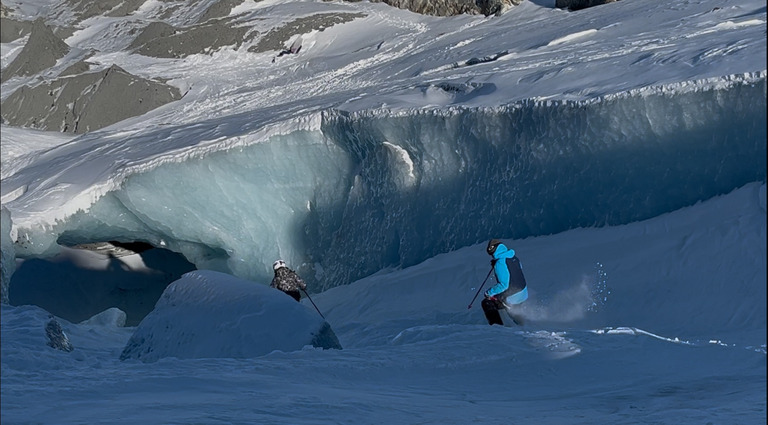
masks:
[[[485,299],[481,303],[488,324],[503,325],[499,310],[506,309],[512,320],[522,325],[522,315],[514,311],[515,306],[528,299],[528,285],[525,283],[520,260],[515,255],[515,250],[507,248],[498,239],[491,239],[486,251],[492,257],[491,266],[497,282],[485,291]]]

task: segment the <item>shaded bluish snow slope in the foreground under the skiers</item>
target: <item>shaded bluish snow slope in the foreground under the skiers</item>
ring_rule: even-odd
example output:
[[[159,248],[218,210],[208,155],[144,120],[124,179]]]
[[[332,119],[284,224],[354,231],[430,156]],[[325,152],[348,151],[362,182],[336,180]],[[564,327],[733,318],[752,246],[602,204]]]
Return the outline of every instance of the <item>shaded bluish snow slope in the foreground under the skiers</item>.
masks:
[[[314,294],[343,350],[121,362],[135,328],[63,321],[75,346],[64,353],[44,346],[43,310],[3,305],[2,420],[763,423],[765,188],[506,240],[531,290],[522,328],[467,309],[482,244]]]

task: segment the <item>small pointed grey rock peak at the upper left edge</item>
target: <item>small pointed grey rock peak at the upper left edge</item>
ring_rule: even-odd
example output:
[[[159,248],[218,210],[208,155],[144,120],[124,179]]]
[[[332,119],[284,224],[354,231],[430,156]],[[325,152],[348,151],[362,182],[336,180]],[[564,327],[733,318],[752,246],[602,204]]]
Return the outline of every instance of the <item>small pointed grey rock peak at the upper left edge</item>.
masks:
[[[29,41],[16,59],[3,70],[1,81],[14,76],[34,75],[56,64],[69,52],[69,46],[56,37],[42,19],[37,19],[31,28]]]

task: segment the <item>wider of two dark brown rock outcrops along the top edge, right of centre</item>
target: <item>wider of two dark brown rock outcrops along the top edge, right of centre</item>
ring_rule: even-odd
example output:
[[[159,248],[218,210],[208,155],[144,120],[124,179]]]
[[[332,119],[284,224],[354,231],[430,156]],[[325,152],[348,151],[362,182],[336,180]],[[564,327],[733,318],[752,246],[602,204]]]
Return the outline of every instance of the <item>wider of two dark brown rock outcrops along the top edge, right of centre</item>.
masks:
[[[423,15],[498,15],[523,0],[371,0]]]

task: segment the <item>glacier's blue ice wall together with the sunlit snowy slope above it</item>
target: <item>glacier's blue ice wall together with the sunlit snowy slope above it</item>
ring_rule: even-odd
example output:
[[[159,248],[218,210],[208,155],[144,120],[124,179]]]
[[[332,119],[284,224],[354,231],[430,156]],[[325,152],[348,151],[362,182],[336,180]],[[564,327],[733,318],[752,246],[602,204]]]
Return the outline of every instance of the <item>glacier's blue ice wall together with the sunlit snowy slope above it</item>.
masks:
[[[2,43],[6,271],[14,255],[138,241],[261,283],[282,258],[319,291],[766,178],[757,0],[448,18],[369,2],[44,3],[4,12],[19,24]],[[33,37],[37,18],[50,28]],[[61,49],[10,65],[35,46]],[[171,87],[168,103],[144,98]],[[10,127],[14,111],[84,133]]]

